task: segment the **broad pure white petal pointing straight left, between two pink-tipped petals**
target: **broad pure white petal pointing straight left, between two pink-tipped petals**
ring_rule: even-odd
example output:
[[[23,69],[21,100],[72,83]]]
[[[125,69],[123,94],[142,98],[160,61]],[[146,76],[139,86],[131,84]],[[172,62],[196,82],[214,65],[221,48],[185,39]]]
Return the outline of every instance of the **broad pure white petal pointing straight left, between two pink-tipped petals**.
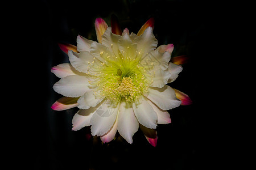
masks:
[[[53,90],[66,97],[80,97],[89,91],[86,76],[69,75],[53,85]]]

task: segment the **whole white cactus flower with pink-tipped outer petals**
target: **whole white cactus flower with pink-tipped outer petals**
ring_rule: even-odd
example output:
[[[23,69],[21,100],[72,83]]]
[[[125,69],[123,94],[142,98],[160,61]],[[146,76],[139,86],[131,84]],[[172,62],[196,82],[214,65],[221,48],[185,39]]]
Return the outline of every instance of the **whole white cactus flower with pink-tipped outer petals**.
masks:
[[[160,45],[153,35],[154,19],[144,24],[138,35],[122,33],[118,25],[108,27],[96,19],[98,42],[77,37],[74,46],[60,45],[68,51],[69,63],[52,68],[61,78],[53,90],[65,96],[52,109],[61,111],[73,107],[80,110],[72,120],[72,130],[91,126],[92,135],[110,142],[118,131],[127,142],[139,126],[151,145],[156,145],[157,124],[171,122],[167,110],[178,107],[173,82],[182,67],[169,62],[172,44]],[[185,95],[185,94],[184,94]],[[149,137],[147,133],[155,134]]]

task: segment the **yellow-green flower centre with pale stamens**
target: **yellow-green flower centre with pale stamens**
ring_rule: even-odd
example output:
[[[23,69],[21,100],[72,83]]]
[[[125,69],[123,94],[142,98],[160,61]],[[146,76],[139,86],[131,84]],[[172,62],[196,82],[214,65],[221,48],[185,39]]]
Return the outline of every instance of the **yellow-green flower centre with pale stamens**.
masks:
[[[140,56],[124,58],[110,57],[100,63],[100,67],[89,82],[98,97],[106,97],[113,103],[121,100],[133,102],[147,92],[151,79],[140,64]]]

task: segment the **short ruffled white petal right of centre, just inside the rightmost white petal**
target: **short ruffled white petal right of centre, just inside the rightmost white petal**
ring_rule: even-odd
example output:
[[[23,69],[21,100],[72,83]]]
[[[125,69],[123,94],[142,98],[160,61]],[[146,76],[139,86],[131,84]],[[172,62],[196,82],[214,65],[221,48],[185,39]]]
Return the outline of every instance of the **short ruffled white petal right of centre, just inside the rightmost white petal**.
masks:
[[[151,87],[163,87],[168,83],[168,79],[171,76],[171,73],[167,70],[154,69],[155,76],[152,78],[153,82],[150,84]]]

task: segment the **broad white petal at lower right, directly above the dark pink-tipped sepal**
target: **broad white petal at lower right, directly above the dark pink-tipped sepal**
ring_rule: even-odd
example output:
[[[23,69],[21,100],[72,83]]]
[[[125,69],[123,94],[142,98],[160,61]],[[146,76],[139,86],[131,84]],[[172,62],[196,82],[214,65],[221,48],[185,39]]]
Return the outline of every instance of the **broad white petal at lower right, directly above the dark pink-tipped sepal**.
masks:
[[[155,129],[156,128],[156,121],[157,116],[154,109],[152,109],[151,105],[148,104],[147,99],[142,97],[140,100],[141,103],[135,104],[133,103],[133,111],[137,120],[143,126],[147,128]]]

